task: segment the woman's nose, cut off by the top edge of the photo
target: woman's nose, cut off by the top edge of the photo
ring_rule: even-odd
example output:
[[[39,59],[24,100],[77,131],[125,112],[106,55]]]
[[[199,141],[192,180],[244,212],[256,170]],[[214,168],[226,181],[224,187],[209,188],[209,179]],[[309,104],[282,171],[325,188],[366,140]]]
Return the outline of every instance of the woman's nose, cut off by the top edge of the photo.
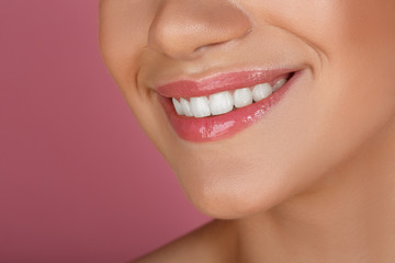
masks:
[[[248,15],[228,0],[163,0],[150,25],[149,48],[174,59],[244,37]]]

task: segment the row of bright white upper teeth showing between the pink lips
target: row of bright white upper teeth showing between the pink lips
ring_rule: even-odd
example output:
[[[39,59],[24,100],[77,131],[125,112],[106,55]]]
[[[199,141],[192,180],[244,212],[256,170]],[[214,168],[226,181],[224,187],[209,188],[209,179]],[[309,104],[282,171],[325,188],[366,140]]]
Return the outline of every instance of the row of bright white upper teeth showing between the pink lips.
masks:
[[[286,79],[280,79],[273,87],[269,83],[257,84],[252,88],[241,88],[233,92],[223,91],[207,96],[190,98],[189,101],[181,98],[172,99],[178,115],[188,117],[207,117],[230,112],[235,107],[250,105],[252,101],[258,102],[270,96],[274,91],[283,87]]]

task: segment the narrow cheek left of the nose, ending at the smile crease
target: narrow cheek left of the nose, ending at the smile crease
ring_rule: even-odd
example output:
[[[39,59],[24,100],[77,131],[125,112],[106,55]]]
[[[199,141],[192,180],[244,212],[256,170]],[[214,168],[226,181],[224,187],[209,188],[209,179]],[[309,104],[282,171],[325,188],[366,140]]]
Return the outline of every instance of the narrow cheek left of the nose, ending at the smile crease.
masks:
[[[99,44],[104,62],[124,94],[137,91],[140,55],[158,1],[102,0]]]

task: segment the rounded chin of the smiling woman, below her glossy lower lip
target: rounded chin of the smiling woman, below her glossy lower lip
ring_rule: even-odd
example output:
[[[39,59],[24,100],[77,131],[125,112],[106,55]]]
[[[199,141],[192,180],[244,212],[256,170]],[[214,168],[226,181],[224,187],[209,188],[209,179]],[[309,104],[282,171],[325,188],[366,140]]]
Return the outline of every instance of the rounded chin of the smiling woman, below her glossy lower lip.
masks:
[[[270,171],[268,167],[250,165],[235,159],[216,160],[215,163],[201,161],[174,171],[190,202],[210,217],[240,219],[253,216],[293,194],[294,184],[281,179],[296,174]]]

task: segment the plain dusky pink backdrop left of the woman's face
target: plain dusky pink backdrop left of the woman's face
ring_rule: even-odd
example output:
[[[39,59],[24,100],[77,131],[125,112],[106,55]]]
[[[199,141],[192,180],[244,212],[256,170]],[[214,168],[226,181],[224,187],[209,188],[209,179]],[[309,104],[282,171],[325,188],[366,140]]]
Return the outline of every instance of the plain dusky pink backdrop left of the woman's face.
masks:
[[[97,0],[0,0],[0,262],[125,262],[207,221],[102,65]]]

